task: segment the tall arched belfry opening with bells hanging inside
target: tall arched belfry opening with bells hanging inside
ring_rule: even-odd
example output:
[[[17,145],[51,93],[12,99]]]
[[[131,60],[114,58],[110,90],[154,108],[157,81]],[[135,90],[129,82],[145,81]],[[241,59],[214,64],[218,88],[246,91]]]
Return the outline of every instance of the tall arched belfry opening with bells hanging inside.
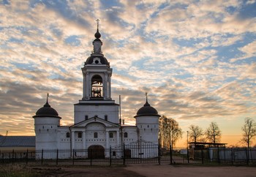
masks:
[[[91,78],[91,97],[102,97],[103,85],[102,85],[102,77],[99,75],[94,75]]]

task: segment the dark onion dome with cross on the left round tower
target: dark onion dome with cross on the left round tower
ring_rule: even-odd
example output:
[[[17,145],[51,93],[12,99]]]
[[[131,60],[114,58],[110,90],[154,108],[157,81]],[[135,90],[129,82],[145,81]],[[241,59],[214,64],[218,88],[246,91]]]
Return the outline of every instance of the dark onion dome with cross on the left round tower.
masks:
[[[61,117],[59,117],[59,113],[55,109],[50,108],[50,105],[48,103],[48,99],[46,100],[45,105],[42,108],[39,108],[39,110],[37,110],[36,116],[33,116],[33,118],[35,118],[35,117],[61,118]]]

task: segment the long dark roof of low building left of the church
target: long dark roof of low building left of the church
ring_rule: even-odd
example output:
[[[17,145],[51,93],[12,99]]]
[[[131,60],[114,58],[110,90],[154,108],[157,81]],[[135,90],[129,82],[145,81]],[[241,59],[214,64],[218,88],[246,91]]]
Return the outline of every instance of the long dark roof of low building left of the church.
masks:
[[[35,136],[0,136],[0,147],[35,147]]]

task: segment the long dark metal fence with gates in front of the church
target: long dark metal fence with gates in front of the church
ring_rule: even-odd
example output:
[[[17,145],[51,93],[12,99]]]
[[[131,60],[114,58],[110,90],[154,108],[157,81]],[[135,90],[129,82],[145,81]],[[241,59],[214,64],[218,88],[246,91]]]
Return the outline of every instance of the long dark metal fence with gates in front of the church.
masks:
[[[206,164],[256,165],[256,148],[159,148],[155,144],[131,143],[109,149],[0,151],[0,164],[100,165]]]

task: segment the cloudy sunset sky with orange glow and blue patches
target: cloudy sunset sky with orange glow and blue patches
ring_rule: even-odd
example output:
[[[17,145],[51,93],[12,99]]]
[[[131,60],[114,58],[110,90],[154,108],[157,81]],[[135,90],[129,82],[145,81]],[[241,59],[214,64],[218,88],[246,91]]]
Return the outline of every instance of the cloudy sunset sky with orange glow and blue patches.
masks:
[[[61,125],[73,124],[96,19],[126,124],[148,92],[183,130],[177,146],[211,121],[222,143],[241,145],[244,118],[256,121],[255,0],[0,0],[1,135],[34,135],[47,93]]]

